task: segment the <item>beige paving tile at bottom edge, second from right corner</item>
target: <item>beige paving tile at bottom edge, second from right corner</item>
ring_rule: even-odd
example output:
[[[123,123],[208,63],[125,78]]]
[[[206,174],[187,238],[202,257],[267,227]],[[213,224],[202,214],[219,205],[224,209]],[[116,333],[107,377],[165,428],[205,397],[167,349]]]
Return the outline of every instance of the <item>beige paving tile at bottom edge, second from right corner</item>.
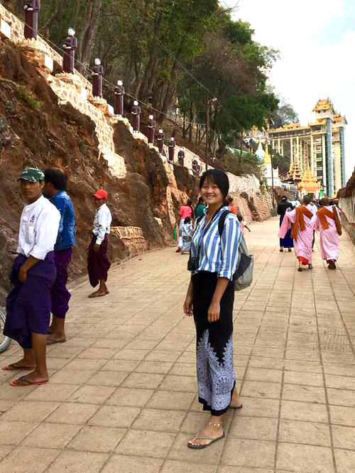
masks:
[[[302,473],[333,473],[332,450],[313,445],[279,443],[277,469]]]

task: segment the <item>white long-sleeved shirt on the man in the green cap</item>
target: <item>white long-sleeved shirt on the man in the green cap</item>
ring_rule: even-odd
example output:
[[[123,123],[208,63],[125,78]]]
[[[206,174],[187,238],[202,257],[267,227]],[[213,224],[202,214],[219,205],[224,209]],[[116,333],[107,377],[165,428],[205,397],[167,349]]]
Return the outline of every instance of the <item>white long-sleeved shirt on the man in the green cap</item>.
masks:
[[[59,224],[59,210],[43,195],[32,204],[25,205],[21,214],[17,253],[45,259],[47,253],[54,249]]]

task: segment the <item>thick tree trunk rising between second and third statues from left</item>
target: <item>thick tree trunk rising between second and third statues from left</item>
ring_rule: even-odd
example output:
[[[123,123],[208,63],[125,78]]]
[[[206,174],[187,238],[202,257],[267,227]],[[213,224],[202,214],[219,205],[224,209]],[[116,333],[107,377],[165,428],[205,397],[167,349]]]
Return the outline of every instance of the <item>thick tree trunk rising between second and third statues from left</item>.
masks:
[[[94,50],[95,38],[99,28],[101,11],[102,0],[87,0],[83,20],[84,28],[80,31],[78,40],[78,58],[82,62],[80,72],[84,72],[92,60],[92,51]]]

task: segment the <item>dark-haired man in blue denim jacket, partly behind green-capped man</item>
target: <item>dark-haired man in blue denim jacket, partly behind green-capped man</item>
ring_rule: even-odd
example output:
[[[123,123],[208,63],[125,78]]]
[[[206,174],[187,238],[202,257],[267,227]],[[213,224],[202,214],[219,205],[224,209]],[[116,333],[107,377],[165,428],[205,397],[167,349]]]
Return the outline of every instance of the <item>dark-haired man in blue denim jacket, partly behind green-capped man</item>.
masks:
[[[72,259],[72,246],[75,245],[75,210],[72,200],[67,195],[67,176],[58,169],[45,170],[43,195],[60,212],[60,225],[54,246],[54,261],[57,269],[55,283],[52,286],[52,323],[48,330],[47,344],[63,343],[65,337],[65,316],[69,310],[70,292],[66,288],[67,268]]]

